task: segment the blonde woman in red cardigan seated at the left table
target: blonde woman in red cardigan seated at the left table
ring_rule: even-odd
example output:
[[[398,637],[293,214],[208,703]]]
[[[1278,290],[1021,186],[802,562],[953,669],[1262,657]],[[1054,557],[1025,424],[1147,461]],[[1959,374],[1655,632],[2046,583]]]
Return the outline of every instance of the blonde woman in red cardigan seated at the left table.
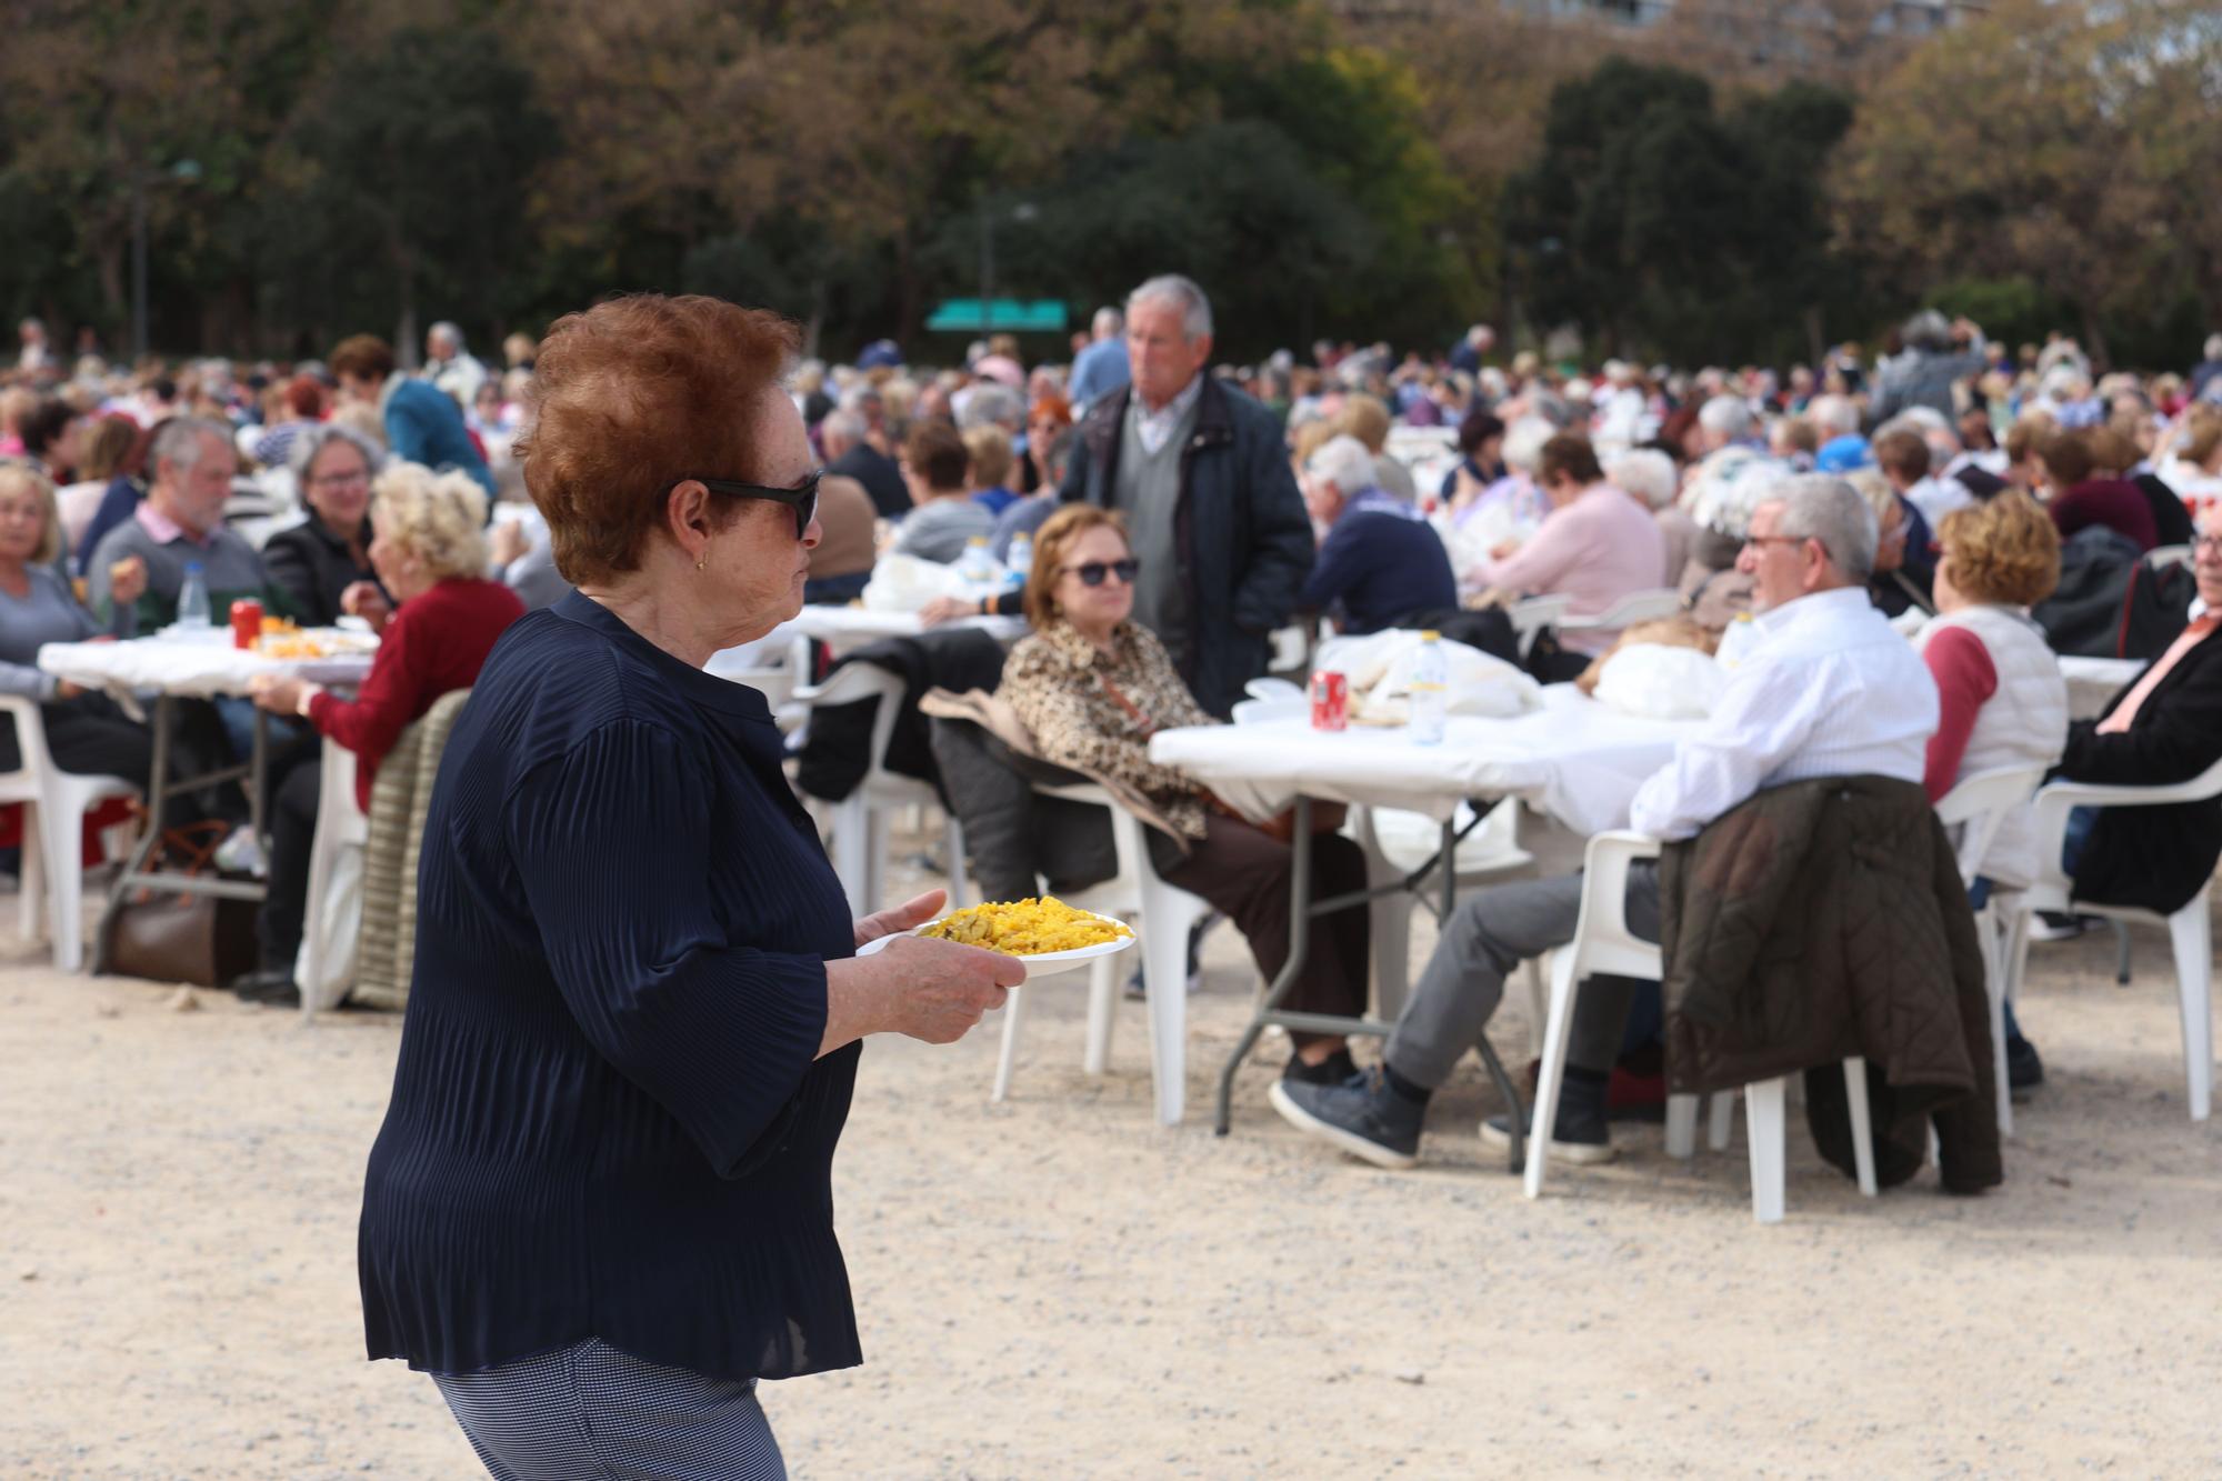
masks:
[[[469,689],[524,603],[487,580],[487,496],[460,471],[433,474],[396,463],[371,485],[371,565],[393,594],[378,658],[356,700],[300,678],[256,676],[253,698],[271,714],[298,716],[327,740],[356,752],[356,805],[369,812],[378,763],[411,720],[449,689]],[[316,838],[322,765],[316,749],[296,749],[271,776],[271,874],[258,936],[262,967],[233,983],[249,1001],[300,1001],[293,956],[300,952],[309,896],[309,845]]]

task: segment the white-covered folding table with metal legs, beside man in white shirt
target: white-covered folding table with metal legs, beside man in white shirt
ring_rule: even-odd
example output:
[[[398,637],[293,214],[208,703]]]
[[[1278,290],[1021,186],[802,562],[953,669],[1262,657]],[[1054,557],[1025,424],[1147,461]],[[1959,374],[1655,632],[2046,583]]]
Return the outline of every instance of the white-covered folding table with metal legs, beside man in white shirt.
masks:
[[[1375,1018],[1295,1014],[1280,1007],[1311,950],[1313,916],[1373,898],[1382,889],[1415,887],[1427,874],[1422,869],[1407,885],[1313,901],[1313,801],[1402,807],[1438,818],[1444,836],[1431,867],[1440,872],[1442,898],[1435,912],[1438,918],[1447,921],[1458,889],[1453,863],[1458,834],[1451,827],[1458,803],[1467,798],[1522,798],[1575,832],[1598,834],[1627,823],[1635,789],[1666,765],[1675,743],[1700,725],[1700,720],[1624,716],[1573,685],[1549,685],[1542,694],[1542,709],[1522,716],[1504,720],[1455,716],[1442,745],[1415,745],[1402,727],[1315,732],[1302,718],[1167,729],[1151,738],[1151,761],[1180,767],[1251,818],[1269,818],[1282,807],[1295,807],[1289,963],[1269,987],[1264,1003],[1258,1005],[1220,1072],[1218,1116],[1213,1121],[1220,1136],[1227,1134],[1231,1121],[1235,1070],[1249,1058],[1267,1025],[1278,1023],[1311,1034],[1371,1036],[1387,1036],[1393,1027]],[[1520,1094],[1489,1041],[1482,1038],[1475,1050],[1480,1050],[1482,1063],[1513,1112],[1511,1161],[1518,1165],[1522,1156]]]

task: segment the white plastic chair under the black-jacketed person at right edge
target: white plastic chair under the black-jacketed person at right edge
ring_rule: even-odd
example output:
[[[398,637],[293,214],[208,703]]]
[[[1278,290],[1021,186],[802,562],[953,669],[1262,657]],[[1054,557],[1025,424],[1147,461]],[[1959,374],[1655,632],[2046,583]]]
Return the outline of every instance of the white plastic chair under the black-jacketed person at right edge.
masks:
[[[2058,781],[2038,792],[2038,881],[2022,892],[2020,910],[2006,945],[2011,972],[2006,992],[2013,992],[2029,967],[2029,923],[2040,910],[2104,916],[2106,921],[2142,921],[2166,925],[2175,947],[2175,1003],[2184,1025],[2184,1094],[2191,1103],[2191,1119],[2206,1121],[2213,1112],[2213,938],[2206,925],[2206,905],[2213,885],[2200,885],[2189,905],[2173,916],[2133,905],[2100,905],[2075,898],[2075,881],[2060,867],[2060,847],[2066,838],[2069,809],[2073,807],[2162,807],[2169,803],[2204,803],[2222,796],[2222,763],[2186,783],[2166,787],[2102,787],[2098,783]]]

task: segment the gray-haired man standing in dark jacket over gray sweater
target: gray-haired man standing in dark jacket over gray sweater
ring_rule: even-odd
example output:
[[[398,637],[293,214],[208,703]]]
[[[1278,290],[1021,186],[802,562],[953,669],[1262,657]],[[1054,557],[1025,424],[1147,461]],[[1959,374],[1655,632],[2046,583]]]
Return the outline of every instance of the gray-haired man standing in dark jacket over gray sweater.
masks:
[[[1211,302],[1180,276],[1127,298],[1133,382],[1080,423],[1060,498],[1127,516],[1133,616],[1173,654],[1195,700],[1224,718],[1264,674],[1269,634],[1311,574],[1304,496],[1280,423],[1220,385]]]

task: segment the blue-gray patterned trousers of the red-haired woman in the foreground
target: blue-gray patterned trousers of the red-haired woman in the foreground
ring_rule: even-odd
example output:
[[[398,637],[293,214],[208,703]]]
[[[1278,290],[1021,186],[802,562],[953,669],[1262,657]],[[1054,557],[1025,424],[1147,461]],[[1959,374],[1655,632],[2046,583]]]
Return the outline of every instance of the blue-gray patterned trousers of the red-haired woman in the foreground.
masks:
[[[589,1336],[431,1381],[496,1481],[787,1481],[755,1379],[644,1363]]]

